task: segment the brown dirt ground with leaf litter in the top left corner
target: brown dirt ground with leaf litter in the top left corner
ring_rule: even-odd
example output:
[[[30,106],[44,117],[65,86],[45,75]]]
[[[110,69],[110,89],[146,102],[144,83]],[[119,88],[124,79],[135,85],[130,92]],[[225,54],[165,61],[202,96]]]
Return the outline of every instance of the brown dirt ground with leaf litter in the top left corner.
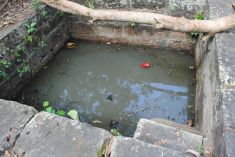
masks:
[[[22,22],[34,13],[31,0],[0,0],[0,31]],[[1,9],[2,8],[2,9]]]

